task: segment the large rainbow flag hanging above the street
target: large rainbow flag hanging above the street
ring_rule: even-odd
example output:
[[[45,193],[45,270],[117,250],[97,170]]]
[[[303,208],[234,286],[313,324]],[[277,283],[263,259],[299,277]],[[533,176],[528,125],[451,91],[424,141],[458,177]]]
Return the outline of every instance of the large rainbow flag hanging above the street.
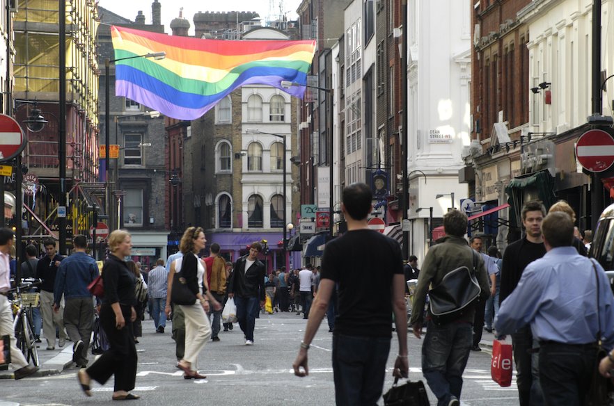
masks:
[[[240,86],[269,85],[302,98],[315,54],[310,41],[200,40],[111,26],[116,95],[179,120],[195,120]],[[166,58],[131,58],[154,52]],[[123,59],[126,58],[126,59]],[[123,59],[123,60],[121,60]]]

